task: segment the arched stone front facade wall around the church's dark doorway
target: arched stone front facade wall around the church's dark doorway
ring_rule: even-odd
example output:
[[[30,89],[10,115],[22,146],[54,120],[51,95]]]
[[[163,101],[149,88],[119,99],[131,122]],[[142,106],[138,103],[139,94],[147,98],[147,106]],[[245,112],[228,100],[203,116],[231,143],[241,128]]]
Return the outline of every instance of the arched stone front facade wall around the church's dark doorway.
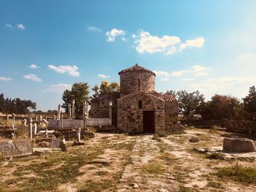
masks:
[[[155,101],[157,109],[155,109]],[[138,109],[138,100],[143,101],[143,108]],[[117,127],[122,132],[143,133],[143,111],[155,111],[156,132],[165,130],[165,102],[142,94],[118,99]]]

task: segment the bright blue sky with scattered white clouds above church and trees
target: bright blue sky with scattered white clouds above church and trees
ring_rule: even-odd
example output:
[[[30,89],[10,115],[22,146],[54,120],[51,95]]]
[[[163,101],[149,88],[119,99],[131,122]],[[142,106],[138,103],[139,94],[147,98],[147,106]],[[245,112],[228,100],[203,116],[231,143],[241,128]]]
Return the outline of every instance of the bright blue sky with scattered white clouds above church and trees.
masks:
[[[239,99],[256,85],[256,1],[0,0],[0,93],[54,110],[73,82],[136,63],[156,89]]]

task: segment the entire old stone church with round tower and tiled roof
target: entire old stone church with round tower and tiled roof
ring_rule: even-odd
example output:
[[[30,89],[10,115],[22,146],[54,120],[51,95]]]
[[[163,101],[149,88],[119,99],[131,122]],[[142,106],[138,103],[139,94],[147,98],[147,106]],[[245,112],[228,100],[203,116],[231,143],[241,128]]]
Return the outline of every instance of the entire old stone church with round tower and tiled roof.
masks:
[[[108,93],[91,100],[91,118],[108,118],[112,102],[112,125],[119,132],[158,133],[170,130],[178,121],[178,101],[155,91],[156,74],[135,64],[120,75],[120,93]]]

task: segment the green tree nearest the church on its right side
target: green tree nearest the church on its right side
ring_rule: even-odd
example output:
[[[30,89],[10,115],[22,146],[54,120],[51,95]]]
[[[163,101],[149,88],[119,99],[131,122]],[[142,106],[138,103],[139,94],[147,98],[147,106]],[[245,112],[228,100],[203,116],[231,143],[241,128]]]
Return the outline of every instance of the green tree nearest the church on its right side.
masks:
[[[178,91],[176,93],[178,107],[185,118],[190,119],[193,115],[200,114],[200,105],[204,103],[204,96],[199,91],[187,93],[187,91]]]

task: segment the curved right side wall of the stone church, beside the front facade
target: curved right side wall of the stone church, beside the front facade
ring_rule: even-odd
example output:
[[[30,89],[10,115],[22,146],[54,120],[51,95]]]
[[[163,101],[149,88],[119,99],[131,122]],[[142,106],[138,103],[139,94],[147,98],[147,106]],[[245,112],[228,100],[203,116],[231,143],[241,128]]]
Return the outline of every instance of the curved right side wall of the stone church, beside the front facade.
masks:
[[[178,122],[178,102],[165,101],[165,130],[169,130],[171,126]]]

